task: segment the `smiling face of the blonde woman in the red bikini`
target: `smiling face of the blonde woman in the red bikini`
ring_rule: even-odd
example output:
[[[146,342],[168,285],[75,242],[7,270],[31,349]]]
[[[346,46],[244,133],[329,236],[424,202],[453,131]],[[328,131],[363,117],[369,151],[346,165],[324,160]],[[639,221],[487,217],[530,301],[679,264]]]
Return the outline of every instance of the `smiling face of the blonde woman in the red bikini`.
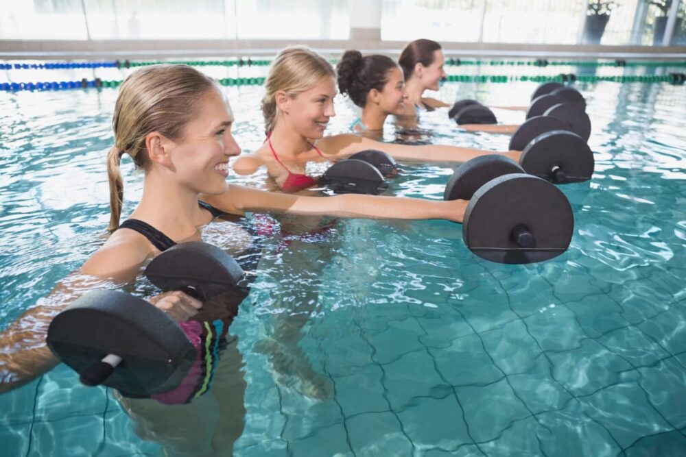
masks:
[[[280,108],[298,134],[304,138],[318,139],[324,136],[329,119],[336,115],[333,110],[335,95],[335,79],[327,76],[305,92],[287,97]]]

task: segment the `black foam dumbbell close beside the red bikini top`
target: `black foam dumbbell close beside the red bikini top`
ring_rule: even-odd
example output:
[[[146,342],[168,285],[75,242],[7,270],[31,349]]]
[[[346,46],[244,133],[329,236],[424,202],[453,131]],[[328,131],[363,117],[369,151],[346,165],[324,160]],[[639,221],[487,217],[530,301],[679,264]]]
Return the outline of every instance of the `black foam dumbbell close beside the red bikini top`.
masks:
[[[330,166],[320,178],[320,184],[338,194],[378,194],[388,186],[386,179],[397,173],[398,166],[391,156],[367,149]]]

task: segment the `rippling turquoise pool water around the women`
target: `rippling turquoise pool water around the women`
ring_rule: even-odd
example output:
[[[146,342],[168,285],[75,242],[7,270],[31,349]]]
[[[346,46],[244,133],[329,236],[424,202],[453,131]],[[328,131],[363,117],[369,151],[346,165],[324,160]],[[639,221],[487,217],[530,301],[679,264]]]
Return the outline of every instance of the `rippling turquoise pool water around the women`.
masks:
[[[440,98],[520,105],[533,88],[446,84]],[[247,382],[235,455],[684,454],[686,90],[580,88],[596,169],[561,187],[576,226],[554,260],[480,260],[442,221],[338,220],[289,245],[265,237],[231,328]],[[261,88],[225,90],[235,136],[254,149]],[[116,95],[0,94],[0,328],[104,239]],[[331,133],[355,117],[345,101],[337,110]],[[508,143],[458,132],[442,112],[422,126],[436,143]],[[440,199],[452,172],[403,164],[386,193]],[[130,163],[123,173],[134,202],[141,175]],[[3,455],[161,454],[134,427],[110,390],[80,386],[64,365],[0,396]]]

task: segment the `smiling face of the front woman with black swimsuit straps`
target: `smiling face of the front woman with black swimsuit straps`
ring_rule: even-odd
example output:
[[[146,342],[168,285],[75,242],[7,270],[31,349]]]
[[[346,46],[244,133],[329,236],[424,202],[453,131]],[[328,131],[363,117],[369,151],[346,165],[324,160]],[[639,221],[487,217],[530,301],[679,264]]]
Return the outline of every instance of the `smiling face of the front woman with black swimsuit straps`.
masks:
[[[226,190],[228,159],[241,153],[231,134],[233,112],[219,90],[204,96],[182,139],[174,142],[171,162],[178,179],[198,193],[217,195]]]

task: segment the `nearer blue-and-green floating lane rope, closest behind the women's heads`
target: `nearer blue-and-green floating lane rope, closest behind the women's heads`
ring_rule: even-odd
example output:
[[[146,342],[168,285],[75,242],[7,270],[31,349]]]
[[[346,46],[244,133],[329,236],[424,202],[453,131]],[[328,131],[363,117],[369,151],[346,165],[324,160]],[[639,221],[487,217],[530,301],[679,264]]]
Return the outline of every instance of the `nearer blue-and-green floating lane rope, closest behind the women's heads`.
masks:
[[[686,74],[669,73],[667,75],[617,75],[617,76],[598,76],[598,75],[573,75],[571,73],[561,73],[560,75],[449,75],[446,77],[448,82],[464,83],[508,83],[508,82],[618,82],[618,83],[662,83],[684,84]],[[264,77],[237,77],[217,79],[222,86],[256,86],[263,84]],[[81,79],[80,81],[52,81],[52,82],[3,82],[0,84],[2,92],[17,92],[19,90],[69,90],[80,88],[115,88],[123,81],[109,81],[106,79]]]

